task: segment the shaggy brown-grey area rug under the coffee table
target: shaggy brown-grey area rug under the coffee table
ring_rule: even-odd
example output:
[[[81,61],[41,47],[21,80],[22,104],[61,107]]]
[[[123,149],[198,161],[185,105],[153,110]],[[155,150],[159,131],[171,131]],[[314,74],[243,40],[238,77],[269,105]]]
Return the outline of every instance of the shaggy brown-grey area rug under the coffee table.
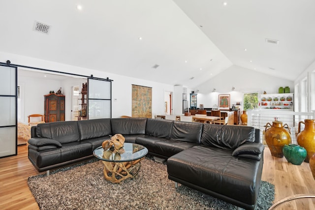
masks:
[[[104,179],[103,164],[91,159],[30,177],[29,187],[41,210],[233,210],[235,206],[167,178],[167,167],[141,161],[134,179],[114,184]],[[256,210],[268,210],[274,185],[261,181]]]

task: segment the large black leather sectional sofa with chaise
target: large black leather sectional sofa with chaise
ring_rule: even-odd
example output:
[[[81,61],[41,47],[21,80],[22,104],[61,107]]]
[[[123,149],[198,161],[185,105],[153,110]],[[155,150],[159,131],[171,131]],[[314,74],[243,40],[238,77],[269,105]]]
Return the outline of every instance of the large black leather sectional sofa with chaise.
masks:
[[[31,128],[29,159],[48,171],[94,157],[111,135],[167,159],[168,178],[244,209],[254,209],[263,166],[259,130],[147,118],[95,119]]]

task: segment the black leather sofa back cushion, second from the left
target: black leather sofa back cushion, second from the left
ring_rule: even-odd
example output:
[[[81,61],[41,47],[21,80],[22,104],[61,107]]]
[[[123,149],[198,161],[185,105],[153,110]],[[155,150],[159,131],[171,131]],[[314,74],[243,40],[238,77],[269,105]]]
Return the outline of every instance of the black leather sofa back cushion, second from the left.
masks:
[[[81,134],[80,140],[94,139],[112,134],[110,119],[80,120],[77,122]]]

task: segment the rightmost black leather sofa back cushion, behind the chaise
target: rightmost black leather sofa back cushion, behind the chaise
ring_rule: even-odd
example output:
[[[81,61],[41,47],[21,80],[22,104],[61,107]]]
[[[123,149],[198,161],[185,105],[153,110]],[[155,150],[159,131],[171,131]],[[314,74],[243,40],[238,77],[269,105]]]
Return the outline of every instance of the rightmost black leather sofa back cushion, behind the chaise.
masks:
[[[201,144],[228,150],[235,150],[242,144],[254,141],[255,128],[251,126],[205,123],[201,136]]]

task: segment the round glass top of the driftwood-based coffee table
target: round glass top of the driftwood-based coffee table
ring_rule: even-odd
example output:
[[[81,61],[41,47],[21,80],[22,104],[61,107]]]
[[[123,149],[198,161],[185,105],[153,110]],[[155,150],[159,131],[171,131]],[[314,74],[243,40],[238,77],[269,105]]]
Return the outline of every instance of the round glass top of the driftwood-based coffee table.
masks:
[[[140,159],[148,153],[148,149],[142,145],[133,143],[124,143],[119,152],[113,149],[104,149],[100,146],[93,151],[95,157],[103,161],[109,162],[128,162],[132,160]]]

